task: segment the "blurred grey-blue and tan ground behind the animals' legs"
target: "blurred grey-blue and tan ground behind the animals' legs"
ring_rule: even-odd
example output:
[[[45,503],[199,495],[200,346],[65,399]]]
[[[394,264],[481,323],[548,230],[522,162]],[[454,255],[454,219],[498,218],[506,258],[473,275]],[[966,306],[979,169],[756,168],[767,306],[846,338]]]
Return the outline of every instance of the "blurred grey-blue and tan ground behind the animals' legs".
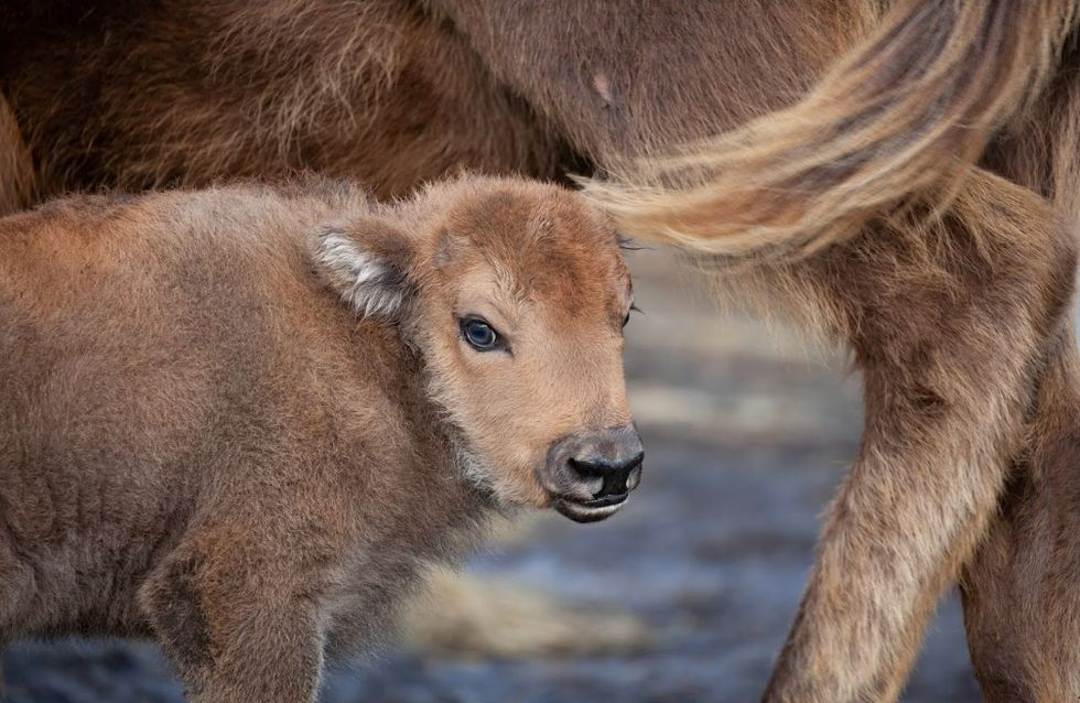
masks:
[[[759,697],[856,451],[857,378],[791,329],[717,313],[669,253],[628,258],[641,488],[601,523],[532,515],[500,530],[463,578],[435,575],[400,647],[331,672],[323,702]],[[183,700],[148,643],[23,643],[3,664],[9,703]],[[955,594],[903,700],[981,700]]]

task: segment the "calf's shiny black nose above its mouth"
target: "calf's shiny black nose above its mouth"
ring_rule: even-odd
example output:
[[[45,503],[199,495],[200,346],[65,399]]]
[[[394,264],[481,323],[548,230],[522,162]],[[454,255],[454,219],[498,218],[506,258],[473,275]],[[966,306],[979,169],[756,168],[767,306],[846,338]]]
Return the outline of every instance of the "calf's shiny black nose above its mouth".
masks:
[[[554,454],[552,468],[572,484],[571,493],[590,505],[622,502],[641,480],[645,452],[633,425],[564,437]]]

